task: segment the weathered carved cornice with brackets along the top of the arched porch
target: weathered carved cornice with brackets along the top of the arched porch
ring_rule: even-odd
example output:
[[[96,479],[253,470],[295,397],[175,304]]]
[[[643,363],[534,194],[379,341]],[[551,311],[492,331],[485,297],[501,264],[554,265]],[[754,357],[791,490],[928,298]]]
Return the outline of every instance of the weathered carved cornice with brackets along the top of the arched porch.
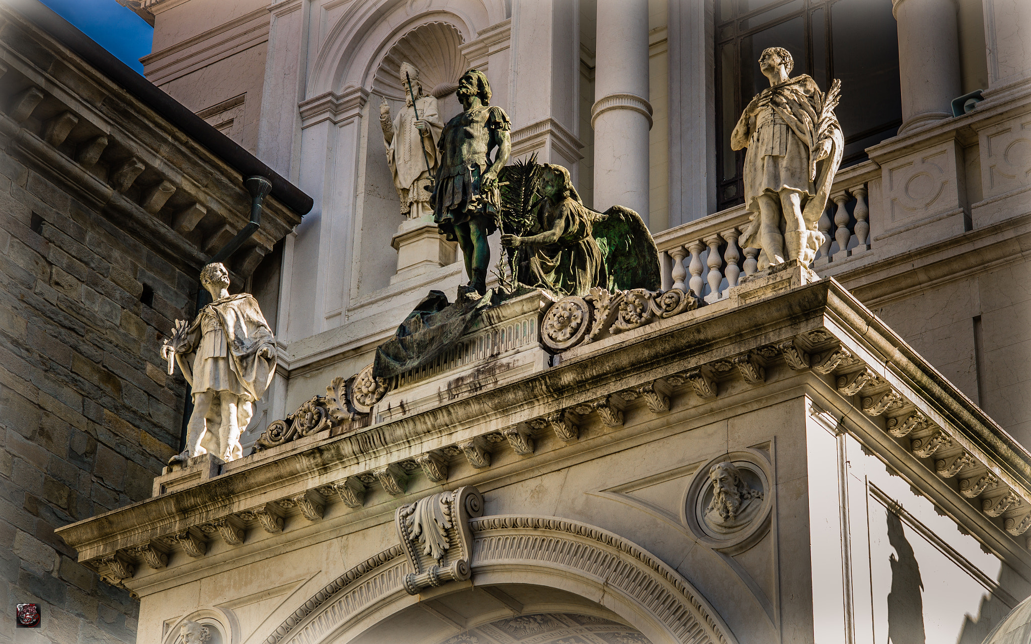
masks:
[[[298,489],[335,503],[340,486],[352,485],[348,480],[369,486],[387,477],[403,495],[403,481],[409,473],[428,467],[420,465],[420,454],[461,459],[465,451],[470,464],[478,463],[484,459],[481,448],[463,447],[474,441],[495,445],[495,449],[507,444],[517,453],[529,453],[534,447],[528,439],[534,432],[538,439],[542,432],[554,433],[566,443],[557,447],[550,443],[555,455],[571,455],[572,451],[563,450],[588,449],[599,440],[595,437],[577,443],[578,426],[587,416],[597,413],[604,425],[622,427],[623,413],[612,402],[617,395],[633,400],[652,394],[656,400],[648,399],[648,406],[654,403],[657,413],[668,408],[663,397],[667,387],[673,387],[672,396],[690,394],[691,404],[697,405],[696,400],[719,400],[720,392],[729,386],[728,379],[736,381],[738,376],[747,384],[762,386],[771,365],[779,360],[801,378],[799,383],[827,392],[827,400],[836,407],[852,409],[851,416],[864,423],[862,432],[890,441],[885,444],[891,451],[902,454],[891,456],[900,467],[908,471],[930,468],[927,474],[914,476],[917,480],[934,478],[936,467],[939,476],[955,476],[949,473],[950,464],[956,465],[959,456],[967,461],[956,467],[967,468],[972,474],[964,476],[974,477],[972,481],[965,479],[968,485],[979,485],[978,477],[983,476],[978,472],[990,473],[992,478],[986,480],[992,483],[991,499],[978,499],[983,489],[968,496],[970,501],[955,488],[934,489],[935,495],[945,495],[958,512],[979,516],[984,509],[995,517],[997,514],[990,512],[1001,492],[1015,500],[1010,505],[1017,503],[1013,507],[1024,508],[1027,514],[1017,516],[1015,527],[1007,523],[1006,530],[1013,530],[1010,535],[1023,534],[1025,518],[1031,524],[1031,512],[1027,512],[1031,505],[1031,454],[840,284],[825,278],[758,301],[732,297],[622,336],[577,346],[556,368],[397,420],[280,445],[223,466],[222,474],[205,483],[58,532],[79,551],[81,561],[100,567],[103,556],[198,529],[220,517],[251,516],[277,503],[289,508]],[[660,380],[661,387],[656,384]],[[624,397],[625,392],[633,395]],[[927,459],[931,459],[929,466],[924,465]],[[942,459],[944,465],[937,465],[935,460]],[[486,467],[490,467],[489,461]],[[340,495],[343,499],[342,492]],[[362,504],[355,499],[346,503],[357,504],[352,507]],[[1016,553],[1010,558],[1027,560],[1025,565],[1031,562],[1022,546],[1005,546],[1012,540],[1001,526],[977,520],[987,543],[1002,544],[993,547]]]

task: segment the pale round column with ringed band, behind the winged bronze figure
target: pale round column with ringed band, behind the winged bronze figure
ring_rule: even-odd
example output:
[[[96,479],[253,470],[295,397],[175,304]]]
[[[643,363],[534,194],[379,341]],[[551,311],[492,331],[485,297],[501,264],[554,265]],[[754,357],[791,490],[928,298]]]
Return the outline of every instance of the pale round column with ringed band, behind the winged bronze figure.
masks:
[[[648,213],[647,0],[598,0],[594,207]]]

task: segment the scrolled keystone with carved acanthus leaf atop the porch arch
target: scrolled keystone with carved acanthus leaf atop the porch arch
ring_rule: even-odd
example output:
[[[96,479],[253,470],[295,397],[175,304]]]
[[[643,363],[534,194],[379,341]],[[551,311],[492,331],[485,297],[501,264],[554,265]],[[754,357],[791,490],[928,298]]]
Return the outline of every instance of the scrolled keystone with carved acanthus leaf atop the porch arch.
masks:
[[[432,495],[398,508],[394,526],[414,571],[404,577],[408,595],[469,578],[469,519],[483,512],[484,498],[472,486]]]

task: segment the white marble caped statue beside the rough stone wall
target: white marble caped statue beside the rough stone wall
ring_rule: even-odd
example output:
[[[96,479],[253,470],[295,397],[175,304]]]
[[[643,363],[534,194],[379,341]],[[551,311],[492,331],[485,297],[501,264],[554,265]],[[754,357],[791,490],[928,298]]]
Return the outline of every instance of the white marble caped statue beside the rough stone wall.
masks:
[[[193,387],[187,446],[169,465],[209,451],[223,461],[239,459],[240,433],[275,373],[275,338],[254,296],[229,295],[229,272],[222,264],[205,266],[200,280],[212,302],[192,325],[175,320],[172,337],[161,347],[169,373],[174,355]]]

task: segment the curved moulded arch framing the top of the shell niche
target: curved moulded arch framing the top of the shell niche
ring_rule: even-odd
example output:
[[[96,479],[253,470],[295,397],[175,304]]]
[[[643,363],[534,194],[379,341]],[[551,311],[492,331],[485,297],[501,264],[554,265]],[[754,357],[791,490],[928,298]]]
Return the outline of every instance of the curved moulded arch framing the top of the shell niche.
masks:
[[[356,2],[329,29],[315,55],[306,98],[347,87],[372,88],[379,63],[424,25],[446,23],[462,42],[508,18],[504,0],[384,0]]]

